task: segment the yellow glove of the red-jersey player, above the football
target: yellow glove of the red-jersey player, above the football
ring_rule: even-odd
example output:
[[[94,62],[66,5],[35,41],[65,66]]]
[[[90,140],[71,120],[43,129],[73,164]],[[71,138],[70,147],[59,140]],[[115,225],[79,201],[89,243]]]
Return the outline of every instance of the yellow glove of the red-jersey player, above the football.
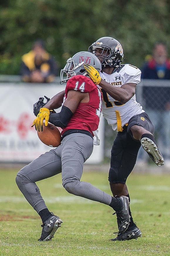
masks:
[[[43,120],[45,119],[45,126],[47,126],[51,111],[52,110],[49,110],[47,108],[40,108],[40,112],[38,113],[31,127],[35,125],[36,131],[43,132]]]

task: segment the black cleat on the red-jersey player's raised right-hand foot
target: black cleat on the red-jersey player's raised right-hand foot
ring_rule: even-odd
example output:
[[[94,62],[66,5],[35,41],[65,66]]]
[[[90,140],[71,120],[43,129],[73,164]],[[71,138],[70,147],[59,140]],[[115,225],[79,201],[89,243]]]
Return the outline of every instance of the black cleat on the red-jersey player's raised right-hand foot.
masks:
[[[118,197],[118,196],[115,196],[115,197]],[[119,199],[122,200],[123,206],[119,211],[114,212],[113,215],[116,214],[117,216],[117,224],[118,224],[119,232],[125,232],[130,222],[129,200],[128,200],[128,197],[125,197],[125,196],[121,196],[119,197]]]

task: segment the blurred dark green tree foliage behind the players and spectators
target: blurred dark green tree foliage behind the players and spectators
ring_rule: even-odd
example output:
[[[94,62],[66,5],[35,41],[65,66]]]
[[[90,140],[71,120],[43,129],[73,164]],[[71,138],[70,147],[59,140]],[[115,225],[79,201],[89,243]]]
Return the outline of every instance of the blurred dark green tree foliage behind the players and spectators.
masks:
[[[5,0],[0,17],[0,74],[19,74],[37,38],[61,68],[102,36],[120,41],[124,62],[139,68],[156,41],[170,49],[170,0]]]

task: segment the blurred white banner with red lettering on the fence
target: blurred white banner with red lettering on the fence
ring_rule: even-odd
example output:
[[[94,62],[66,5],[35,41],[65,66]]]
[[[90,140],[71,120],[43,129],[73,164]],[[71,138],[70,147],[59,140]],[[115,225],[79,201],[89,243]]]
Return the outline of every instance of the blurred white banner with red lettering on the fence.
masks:
[[[52,149],[38,138],[31,127],[35,116],[33,104],[39,97],[53,97],[65,86],[55,84],[12,84],[0,85],[0,162],[31,162]],[[46,101],[46,100],[45,100]],[[56,112],[60,109],[57,109]],[[94,146],[87,163],[103,160],[103,117],[99,124],[100,146]]]

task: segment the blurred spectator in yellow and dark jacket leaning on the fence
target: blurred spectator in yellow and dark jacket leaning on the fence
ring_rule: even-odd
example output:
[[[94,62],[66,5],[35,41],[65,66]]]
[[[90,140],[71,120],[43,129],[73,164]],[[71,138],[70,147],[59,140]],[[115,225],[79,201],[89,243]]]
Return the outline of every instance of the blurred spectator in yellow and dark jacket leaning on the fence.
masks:
[[[57,62],[45,50],[45,43],[38,39],[33,49],[22,56],[21,76],[24,82],[50,83],[57,75]]]

